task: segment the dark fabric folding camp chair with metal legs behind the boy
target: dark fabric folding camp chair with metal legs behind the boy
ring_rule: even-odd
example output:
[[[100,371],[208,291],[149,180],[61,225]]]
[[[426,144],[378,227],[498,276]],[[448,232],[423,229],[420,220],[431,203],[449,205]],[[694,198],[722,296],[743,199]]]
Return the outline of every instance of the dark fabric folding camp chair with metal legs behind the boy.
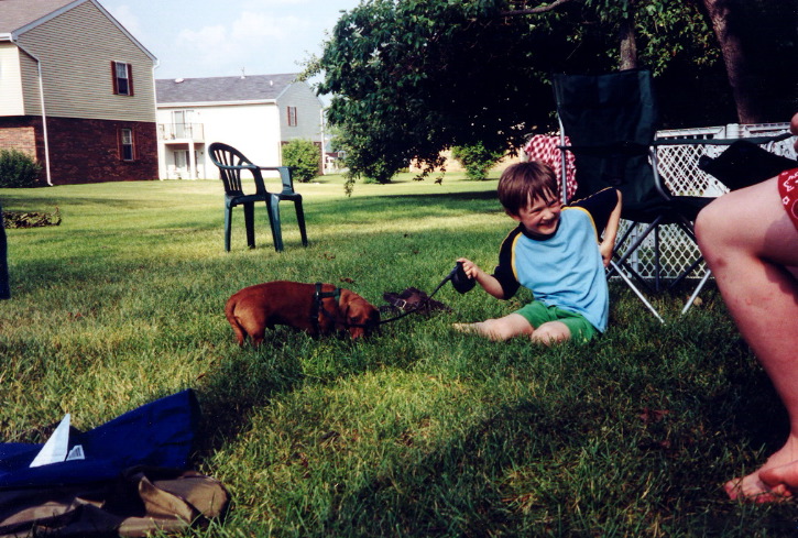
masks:
[[[657,149],[664,145],[729,145],[733,140],[678,139],[657,141],[658,107],[653,88],[652,74],[644,69],[584,76],[555,75],[555,99],[560,121],[560,136],[568,135],[572,145],[561,144],[564,151],[576,156],[577,197],[614,187],[623,195],[622,218],[631,226],[616,243],[615,260],[610,275],[617,273],[633,292],[645,300],[643,294],[624,274],[632,275],[648,292],[652,286],[630,263],[634,257],[653,257],[654,285],[662,289],[659,228],[675,224],[695,245],[692,223],[698,212],[714,199],[712,196],[674,196],[665,186],[657,166]],[[756,139],[764,143],[773,138]],[[641,226],[638,226],[641,224]],[[640,228],[643,228],[640,231]],[[653,239],[654,248],[643,253],[646,240]],[[647,244],[647,243],[646,243]],[[620,253],[620,254],[619,254]],[[703,261],[700,252],[696,259],[673,279],[673,288],[689,276]],[[709,276],[693,293],[682,314],[692,304]]]

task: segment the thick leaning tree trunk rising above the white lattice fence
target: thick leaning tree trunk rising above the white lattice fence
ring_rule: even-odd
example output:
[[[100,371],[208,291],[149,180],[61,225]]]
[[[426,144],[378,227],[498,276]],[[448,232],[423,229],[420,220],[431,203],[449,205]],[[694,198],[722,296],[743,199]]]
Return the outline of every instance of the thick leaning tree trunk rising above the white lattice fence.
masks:
[[[702,1],[712,22],[712,30],[726,66],[729,85],[737,108],[737,121],[740,123],[759,123],[762,109],[752,80],[753,73],[747,65],[740,35],[735,33],[734,25],[730,22],[731,2],[729,0]]]

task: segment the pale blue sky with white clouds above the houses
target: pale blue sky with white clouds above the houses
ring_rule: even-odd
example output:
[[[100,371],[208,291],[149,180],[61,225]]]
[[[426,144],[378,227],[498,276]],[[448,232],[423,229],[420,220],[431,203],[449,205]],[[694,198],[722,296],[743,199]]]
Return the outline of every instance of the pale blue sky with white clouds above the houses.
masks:
[[[299,73],[360,0],[98,0],[158,59],[155,78]]]

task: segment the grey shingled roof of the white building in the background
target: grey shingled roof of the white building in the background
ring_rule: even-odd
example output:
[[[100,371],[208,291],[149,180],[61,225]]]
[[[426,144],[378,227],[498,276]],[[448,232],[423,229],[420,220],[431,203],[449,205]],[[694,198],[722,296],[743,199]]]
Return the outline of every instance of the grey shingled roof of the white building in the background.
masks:
[[[155,80],[155,100],[158,105],[275,100],[296,81],[297,76],[289,73],[174,80],[158,78]]]

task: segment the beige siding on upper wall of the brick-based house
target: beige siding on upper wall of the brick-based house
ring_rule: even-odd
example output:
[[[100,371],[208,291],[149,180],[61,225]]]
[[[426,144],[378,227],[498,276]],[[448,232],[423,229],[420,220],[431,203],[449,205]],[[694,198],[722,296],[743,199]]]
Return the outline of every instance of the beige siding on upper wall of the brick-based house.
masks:
[[[153,61],[94,3],[20,35],[42,62],[47,116],[155,121]],[[133,96],[113,94],[111,62],[132,66]]]

